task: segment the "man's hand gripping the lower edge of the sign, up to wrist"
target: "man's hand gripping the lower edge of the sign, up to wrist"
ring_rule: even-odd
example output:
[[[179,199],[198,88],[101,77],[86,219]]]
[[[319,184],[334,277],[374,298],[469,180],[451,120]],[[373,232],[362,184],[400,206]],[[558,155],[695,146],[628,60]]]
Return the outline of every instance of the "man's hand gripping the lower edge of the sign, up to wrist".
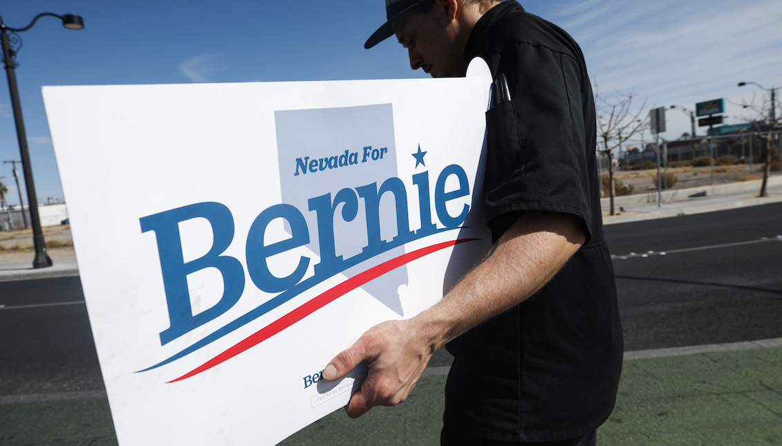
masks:
[[[362,361],[367,365],[367,378],[346,407],[350,418],[407,399],[434,354],[425,331],[415,319],[382,322],[328,363],[323,372],[327,381],[342,378]]]

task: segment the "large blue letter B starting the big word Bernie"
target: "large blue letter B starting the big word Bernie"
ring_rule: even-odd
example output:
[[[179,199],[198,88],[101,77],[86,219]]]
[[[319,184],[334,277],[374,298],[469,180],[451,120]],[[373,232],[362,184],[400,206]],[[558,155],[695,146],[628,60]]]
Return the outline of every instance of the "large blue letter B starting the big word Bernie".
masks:
[[[206,218],[209,221],[214,241],[203,257],[185,263],[179,223],[192,218]],[[239,301],[245,286],[244,269],[234,257],[221,255],[234,238],[234,219],[228,207],[221,203],[197,203],[149,215],[140,221],[142,232],[155,232],[163,287],[166,290],[170,327],[160,333],[161,345],[203,326]],[[221,273],[223,296],[212,308],[194,316],[187,276],[204,268],[217,268]]]

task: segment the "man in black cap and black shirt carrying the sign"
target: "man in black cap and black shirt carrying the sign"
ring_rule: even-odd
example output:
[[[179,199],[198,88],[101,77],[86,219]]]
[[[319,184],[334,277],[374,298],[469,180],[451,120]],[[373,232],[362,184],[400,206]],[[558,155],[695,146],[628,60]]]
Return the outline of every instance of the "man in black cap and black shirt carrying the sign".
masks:
[[[439,304],[368,330],[324,377],[368,365],[346,408],[357,417],[404,401],[450,340],[443,444],[594,444],[614,405],[622,333],[583,55],[512,0],[386,0],[386,13],[367,48],[393,33],[414,70],[464,76],[480,56],[508,78],[513,105],[494,113],[509,124],[489,128],[484,180],[496,243]]]

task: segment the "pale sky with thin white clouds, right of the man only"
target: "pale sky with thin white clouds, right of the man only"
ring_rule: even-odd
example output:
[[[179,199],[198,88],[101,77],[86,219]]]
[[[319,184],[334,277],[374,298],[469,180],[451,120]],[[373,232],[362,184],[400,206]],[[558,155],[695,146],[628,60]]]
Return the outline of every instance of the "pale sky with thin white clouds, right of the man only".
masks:
[[[551,5],[551,4],[550,4]],[[647,108],[726,99],[729,122],[748,115],[741,104],[767,95],[738,88],[756,81],[782,84],[782,3],[778,0],[575,0],[543,6],[544,16],[581,45],[601,92],[636,92]],[[755,91],[753,91],[755,90]],[[689,131],[689,119],[669,113],[670,132]],[[672,126],[673,124],[673,126]],[[698,132],[704,132],[700,128]]]

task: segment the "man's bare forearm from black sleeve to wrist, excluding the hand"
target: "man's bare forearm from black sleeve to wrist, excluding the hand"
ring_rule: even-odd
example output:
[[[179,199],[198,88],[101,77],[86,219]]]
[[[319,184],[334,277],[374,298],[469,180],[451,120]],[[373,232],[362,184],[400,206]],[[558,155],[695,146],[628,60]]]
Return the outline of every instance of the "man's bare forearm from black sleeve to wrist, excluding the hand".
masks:
[[[414,318],[434,350],[540,290],[584,243],[579,221],[565,214],[530,212],[500,237],[493,253],[443,300]]]

